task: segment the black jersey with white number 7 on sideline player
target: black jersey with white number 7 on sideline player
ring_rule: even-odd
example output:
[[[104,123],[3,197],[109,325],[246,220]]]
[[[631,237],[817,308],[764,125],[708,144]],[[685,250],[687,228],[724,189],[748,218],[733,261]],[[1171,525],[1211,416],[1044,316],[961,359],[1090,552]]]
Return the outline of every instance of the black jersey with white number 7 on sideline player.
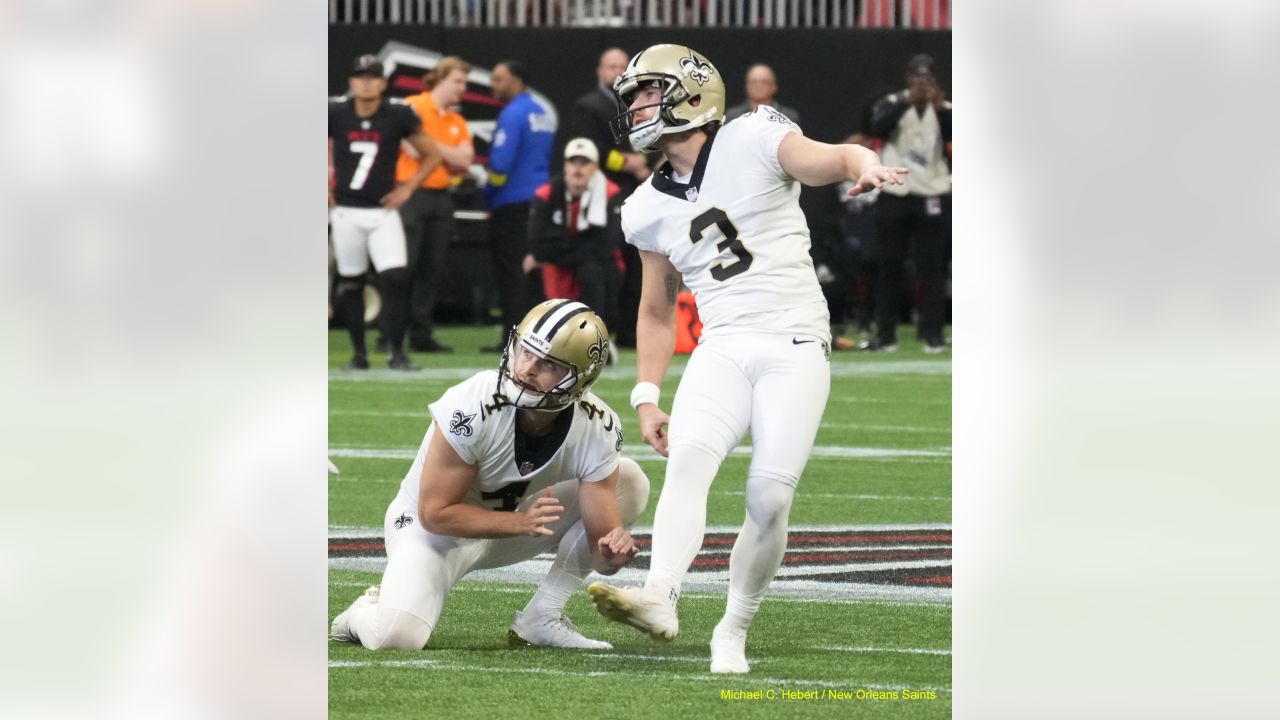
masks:
[[[367,118],[356,114],[351,99],[329,100],[333,138],[334,200],[347,208],[380,208],[396,188],[399,143],[422,127],[413,108],[398,97],[383,97]]]

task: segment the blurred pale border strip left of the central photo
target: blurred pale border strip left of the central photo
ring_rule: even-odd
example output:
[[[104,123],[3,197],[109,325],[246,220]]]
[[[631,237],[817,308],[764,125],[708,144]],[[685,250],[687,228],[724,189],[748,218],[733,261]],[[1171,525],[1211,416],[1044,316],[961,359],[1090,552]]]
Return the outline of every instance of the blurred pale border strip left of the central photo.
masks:
[[[0,716],[325,712],[326,36],[0,8]]]

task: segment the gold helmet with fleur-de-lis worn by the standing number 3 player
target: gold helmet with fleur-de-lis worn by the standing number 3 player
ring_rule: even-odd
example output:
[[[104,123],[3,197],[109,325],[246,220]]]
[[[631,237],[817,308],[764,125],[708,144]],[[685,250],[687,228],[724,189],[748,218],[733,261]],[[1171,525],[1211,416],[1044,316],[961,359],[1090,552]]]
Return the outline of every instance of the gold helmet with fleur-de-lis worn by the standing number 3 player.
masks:
[[[635,92],[650,83],[662,90],[658,113],[653,120],[631,127]],[[611,123],[613,138],[630,140],[636,150],[653,149],[663,135],[724,119],[724,81],[710,60],[684,45],[654,45],[636,54],[614,81],[613,95],[620,110]]]

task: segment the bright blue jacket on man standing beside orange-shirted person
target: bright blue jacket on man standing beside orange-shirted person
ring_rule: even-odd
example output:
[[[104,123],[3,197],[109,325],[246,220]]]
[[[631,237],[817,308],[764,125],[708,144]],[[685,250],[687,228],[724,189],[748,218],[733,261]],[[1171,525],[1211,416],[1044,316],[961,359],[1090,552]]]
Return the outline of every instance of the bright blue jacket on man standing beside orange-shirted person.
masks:
[[[498,114],[489,145],[489,209],[524,202],[550,177],[556,115],[529,91],[511,99]]]

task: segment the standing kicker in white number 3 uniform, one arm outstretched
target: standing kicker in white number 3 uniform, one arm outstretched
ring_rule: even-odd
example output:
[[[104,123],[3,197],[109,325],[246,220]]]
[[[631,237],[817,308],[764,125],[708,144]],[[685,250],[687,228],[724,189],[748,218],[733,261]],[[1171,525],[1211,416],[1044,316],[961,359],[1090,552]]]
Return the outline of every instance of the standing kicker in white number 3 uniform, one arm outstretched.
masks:
[[[644,587],[593,583],[588,593],[612,620],[676,637],[676,601],[703,543],[707,493],[750,430],[746,519],[710,639],[712,673],[746,673],[746,632],[782,561],[791,501],[831,387],[829,316],[800,184],[851,179],[850,195],[859,195],[901,184],[906,169],[886,168],[861,146],[808,140],[768,105],[721,127],[724,83],[689,47],[644,50],[613,90],[622,110],[614,136],[668,159],[623,205],[622,229],[644,268],[631,405],[645,442],[669,461]],[[659,387],[681,282],[698,301],[703,336],[668,416]]]

